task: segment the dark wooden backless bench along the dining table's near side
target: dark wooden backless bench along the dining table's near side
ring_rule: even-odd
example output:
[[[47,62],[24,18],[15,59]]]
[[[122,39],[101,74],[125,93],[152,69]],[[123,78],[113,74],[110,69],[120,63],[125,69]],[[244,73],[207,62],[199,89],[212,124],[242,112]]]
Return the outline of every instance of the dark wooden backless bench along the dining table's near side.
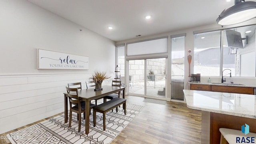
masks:
[[[124,98],[114,98],[110,101],[104,102],[95,106],[93,108],[93,126],[96,126],[96,112],[100,112],[103,114],[103,130],[106,130],[106,112],[116,108],[116,112],[118,112],[118,106],[123,104],[124,114],[126,114],[126,99]]]

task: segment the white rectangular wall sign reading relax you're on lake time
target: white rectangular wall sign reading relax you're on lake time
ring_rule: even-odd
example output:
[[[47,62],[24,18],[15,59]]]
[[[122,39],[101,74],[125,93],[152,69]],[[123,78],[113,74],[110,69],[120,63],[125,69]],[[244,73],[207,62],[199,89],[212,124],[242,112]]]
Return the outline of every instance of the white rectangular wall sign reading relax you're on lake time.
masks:
[[[38,49],[38,69],[88,70],[89,57]]]

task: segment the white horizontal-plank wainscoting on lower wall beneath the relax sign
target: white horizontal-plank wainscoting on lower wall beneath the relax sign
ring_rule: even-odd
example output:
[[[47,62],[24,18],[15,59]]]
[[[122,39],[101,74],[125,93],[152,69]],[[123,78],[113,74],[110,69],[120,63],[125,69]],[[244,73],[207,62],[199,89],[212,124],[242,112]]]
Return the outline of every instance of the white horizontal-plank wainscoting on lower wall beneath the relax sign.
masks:
[[[72,82],[91,74],[32,74],[4,76],[0,86],[0,134],[64,112],[63,93]],[[20,82],[18,82],[20,81]]]

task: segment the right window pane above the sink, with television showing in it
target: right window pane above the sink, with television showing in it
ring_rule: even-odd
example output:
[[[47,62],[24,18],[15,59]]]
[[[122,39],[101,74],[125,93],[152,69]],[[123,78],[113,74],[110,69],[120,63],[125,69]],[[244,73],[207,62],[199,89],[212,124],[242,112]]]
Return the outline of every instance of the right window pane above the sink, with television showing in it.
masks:
[[[232,76],[255,76],[255,27],[256,25],[223,30],[222,69],[230,69]],[[233,54],[229,54],[231,49],[234,49]]]

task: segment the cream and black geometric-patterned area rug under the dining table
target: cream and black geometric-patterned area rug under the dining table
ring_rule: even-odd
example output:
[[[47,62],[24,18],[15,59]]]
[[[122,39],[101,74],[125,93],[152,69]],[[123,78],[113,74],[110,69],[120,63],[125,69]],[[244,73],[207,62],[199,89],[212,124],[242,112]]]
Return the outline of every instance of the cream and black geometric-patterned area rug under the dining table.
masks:
[[[90,130],[87,135],[85,134],[84,120],[82,120],[81,131],[77,132],[77,116],[76,113],[72,113],[70,128],[68,128],[68,122],[64,123],[64,114],[62,114],[12,132],[8,136],[13,138],[10,140],[12,144],[109,144],[143,108],[144,106],[126,103],[126,115],[124,115],[122,105],[118,113],[115,109],[113,112],[110,110],[106,113],[105,131],[103,131],[102,114],[96,113],[97,122],[95,127],[93,127],[93,116],[91,114]]]

